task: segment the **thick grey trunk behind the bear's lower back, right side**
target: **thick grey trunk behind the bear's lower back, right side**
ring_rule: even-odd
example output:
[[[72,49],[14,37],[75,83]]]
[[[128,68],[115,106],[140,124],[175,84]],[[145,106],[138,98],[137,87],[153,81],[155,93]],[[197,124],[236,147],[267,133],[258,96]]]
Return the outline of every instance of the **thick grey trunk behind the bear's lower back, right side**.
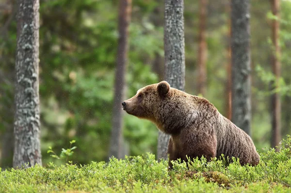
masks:
[[[249,0],[231,0],[232,122],[251,134]]]

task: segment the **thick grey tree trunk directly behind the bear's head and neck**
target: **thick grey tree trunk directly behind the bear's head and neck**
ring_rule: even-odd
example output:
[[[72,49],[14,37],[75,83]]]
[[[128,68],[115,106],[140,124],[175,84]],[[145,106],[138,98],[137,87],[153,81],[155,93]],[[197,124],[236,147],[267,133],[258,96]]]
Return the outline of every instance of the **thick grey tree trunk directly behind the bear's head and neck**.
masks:
[[[184,0],[165,0],[165,80],[171,87],[185,88]],[[158,159],[167,159],[169,135],[159,132]]]

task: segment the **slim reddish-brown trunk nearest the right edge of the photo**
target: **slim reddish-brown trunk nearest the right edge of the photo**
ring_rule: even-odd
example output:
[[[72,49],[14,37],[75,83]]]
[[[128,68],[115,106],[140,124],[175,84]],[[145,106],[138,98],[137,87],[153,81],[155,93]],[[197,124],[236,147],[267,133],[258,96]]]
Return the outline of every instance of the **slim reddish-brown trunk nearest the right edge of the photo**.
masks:
[[[279,17],[280,0],[270,0],[272,6],[272,13]],[[279,78],[281,76],[280,63],[280,46],[279,46],[279,21],[274,19],[272,22],[272,41],[273,41],[273,55],[272,55],[272,69],[275,74],[275,81],[271,82],[271,89],[278,89]],[[275,92],[271,95],[271,117],[272,117],[272,135],[271,147],[279,146],[281,140],[281,100],[280,93]],[[278,149],[277,149],[278,150]]]

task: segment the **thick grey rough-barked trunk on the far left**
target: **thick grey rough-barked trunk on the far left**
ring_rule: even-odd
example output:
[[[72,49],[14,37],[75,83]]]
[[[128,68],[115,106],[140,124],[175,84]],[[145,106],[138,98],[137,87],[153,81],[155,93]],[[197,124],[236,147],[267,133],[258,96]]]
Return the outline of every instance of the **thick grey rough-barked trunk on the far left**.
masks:
[[[38,93],[39,0],[18,0],[17,8],[13,167],[20,168],[42,164]]]

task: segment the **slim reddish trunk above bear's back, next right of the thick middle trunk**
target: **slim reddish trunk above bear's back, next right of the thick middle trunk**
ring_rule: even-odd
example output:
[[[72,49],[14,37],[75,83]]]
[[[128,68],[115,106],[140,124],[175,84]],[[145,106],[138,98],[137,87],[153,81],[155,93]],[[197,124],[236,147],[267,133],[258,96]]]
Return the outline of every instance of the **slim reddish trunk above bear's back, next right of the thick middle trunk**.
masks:
[[[200,0],[199,9],[199,48],[198,48],[198,93],[205,96],[206,94],[206,60],[207,60],[207,43],[206,43],[206,15],[208,0]]]

